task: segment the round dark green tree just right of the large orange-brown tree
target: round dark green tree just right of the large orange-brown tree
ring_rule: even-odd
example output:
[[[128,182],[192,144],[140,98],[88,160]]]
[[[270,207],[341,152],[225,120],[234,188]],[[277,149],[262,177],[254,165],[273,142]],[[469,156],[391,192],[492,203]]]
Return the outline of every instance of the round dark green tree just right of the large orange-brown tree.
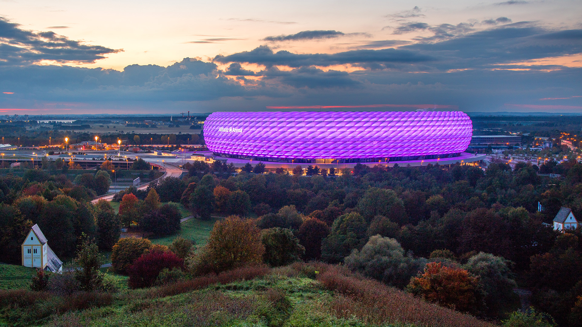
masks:
[[[299,244],[299,239],[286,228],[269,228],[262,230],[262,244],[265,246],[263,260],[271,266],[283,266],[301,260],[305,248]]]

